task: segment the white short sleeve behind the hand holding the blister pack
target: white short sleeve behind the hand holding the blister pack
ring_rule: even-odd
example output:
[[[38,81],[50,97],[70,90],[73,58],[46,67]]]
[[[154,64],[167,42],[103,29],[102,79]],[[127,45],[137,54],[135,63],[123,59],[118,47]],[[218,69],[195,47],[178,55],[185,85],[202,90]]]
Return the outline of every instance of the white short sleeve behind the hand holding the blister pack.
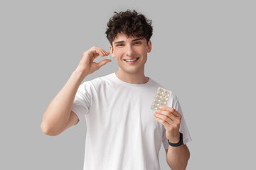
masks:
[[[192,139],[191,139],[191,135],[188,131],[188,127],[186,125],[185,118],[184,118],[183,113],[182,113],[181,105],[178,102],[178,98],[177,97],[175,97],[175,98],[176,98],[176,100],[174,101],[174,105],[173,105],[172,108],[174,108],[176,111],[178,111],[178,113],[180,113],[182,115],[180,132],[183,134],[183,143],[186,144],[188,142],[191,142]],[[165,128],[164,128],[164,132],[163,132],[163,135],[162,135],[162,142],[163,142],[163,145],[164,145],[164,149],[168,149],[169,148],[169,143],[168,143],[168,139],[166,137]]]

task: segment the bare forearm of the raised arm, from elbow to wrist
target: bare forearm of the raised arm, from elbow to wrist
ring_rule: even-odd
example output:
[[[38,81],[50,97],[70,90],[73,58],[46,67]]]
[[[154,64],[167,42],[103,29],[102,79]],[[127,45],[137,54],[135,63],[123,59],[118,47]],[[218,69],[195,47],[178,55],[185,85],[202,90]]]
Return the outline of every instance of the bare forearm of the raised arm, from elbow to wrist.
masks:
[[[63,132],[70,117],[75,94],[84,78],[80,72],[73,72],[63,88],[50,102],[43,114],[41,124],[41,130],[44,133],[58,135]]]

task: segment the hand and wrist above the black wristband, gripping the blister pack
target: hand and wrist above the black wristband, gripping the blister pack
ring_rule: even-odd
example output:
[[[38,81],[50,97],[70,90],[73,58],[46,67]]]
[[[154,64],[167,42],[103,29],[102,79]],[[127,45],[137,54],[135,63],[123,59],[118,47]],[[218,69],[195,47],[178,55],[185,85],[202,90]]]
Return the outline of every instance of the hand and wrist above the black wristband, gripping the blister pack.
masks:
[[[161,106],[159,110],[156,110],[154,116],[157,122],[164,125],[167,139],[171,143],[178,143],[180,139],[181,114],[174,108]]]

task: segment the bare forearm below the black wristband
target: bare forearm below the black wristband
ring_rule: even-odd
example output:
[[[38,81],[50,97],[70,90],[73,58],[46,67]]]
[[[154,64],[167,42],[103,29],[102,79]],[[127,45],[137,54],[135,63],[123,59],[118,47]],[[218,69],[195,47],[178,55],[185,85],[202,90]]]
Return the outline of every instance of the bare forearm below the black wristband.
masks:
[[[181,145],[179,147],[169,146],[166,159],[172,170],[180,170],[186,169],[189,157],[190,152],[186,145]]]

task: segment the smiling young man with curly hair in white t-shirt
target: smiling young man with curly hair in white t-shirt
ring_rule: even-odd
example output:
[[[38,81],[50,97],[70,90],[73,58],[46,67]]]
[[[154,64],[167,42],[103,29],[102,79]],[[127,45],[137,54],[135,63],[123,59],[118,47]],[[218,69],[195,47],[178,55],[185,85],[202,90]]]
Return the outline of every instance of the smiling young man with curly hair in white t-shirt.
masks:
[[[186,169],[191,141],[178,98],[171,93],[166,106],[154,111],[151,103],[158,87],[145,77],[144,64],[151,52],[151,22],[141,13],[115,13],[107,23],[110,52],[117,72],[91,81],[82,80],[111,60],[100,47],[83,53],[78,67],[50,102],[41,129],[59,135],[84,116],[87,123],[84,169],[160,169],[163,143],[171,169]]]

